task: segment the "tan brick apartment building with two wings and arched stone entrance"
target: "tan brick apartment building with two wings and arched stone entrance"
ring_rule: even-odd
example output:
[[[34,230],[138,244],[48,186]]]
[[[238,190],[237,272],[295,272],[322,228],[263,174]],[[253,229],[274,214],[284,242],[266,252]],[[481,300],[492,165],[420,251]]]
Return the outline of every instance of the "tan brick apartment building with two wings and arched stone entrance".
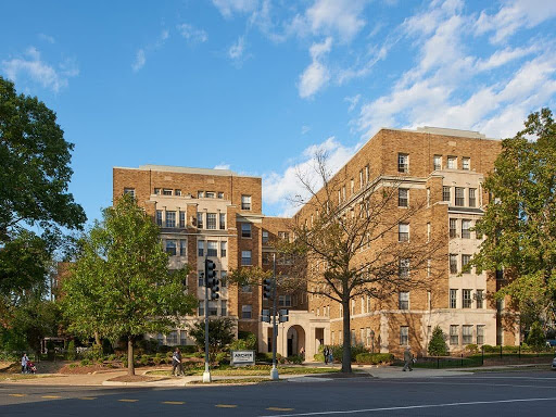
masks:
[[[465,265],[479,249],[482,237],[473,227],[484,213],[489,195],[482,189],[493,169],[501,142],[476,131],[442,128],[416,130],[381,129],[340,169],[345,179],[339,199],[345,206],[364,198],[370,184],[399,185],[399,202],[393,210],[406,210],[426,200],[427,206],[415,218],[400,225],[383,244],[407,240],[426,244],[431,237],[442,241],[441,261],[426,276],[426,289],[400,291],[388,300],[362,296],[352,301],[351,333],[354,343],[374,351],[400,353],[405,345],[425,353],[432,329],[438,325],[447,334],[452,352],[465,345],[518,344],[519,326],[515,315],[496,303],[492,294],[502,274],[467,271]],[[198,316],[204,315],[204,287],[200,278],[204,257],[213,260],[223,280],[220,300],[211,301],[211,316],[230,316],[238,329],[258,337],[261,352],[271,351],[273,329],[261,323],[267,308],[261,287],[227,286],[226,275],[239,267],[276,268],[288,274],[292,260],[275,254],[273,241],[292,239],[291,219],[262,213],[260,177],[238,175],[227,169],[204,169],[143,165],[113,169],[113,197],[132,193],[161,227],[161,239],[170,255],[170,266],[197,267],[188,279],[189,291],[200,300]],[[309,205],[295,216],[307,220]],[[363,253],[362,256],[365,254]],[[363,260],[363,257],[362,257]],[[407,267],[407,274],[412,274]],[[280,308],[289,309],[289,321],[279,325],[277,350],[296,354],[303,348],[307,358],[320,344],[342,343],[342,315],[338,303],[304,292],[280,293]],[[162,343],[191,343],[184,317],[169,334],[152,334]]]

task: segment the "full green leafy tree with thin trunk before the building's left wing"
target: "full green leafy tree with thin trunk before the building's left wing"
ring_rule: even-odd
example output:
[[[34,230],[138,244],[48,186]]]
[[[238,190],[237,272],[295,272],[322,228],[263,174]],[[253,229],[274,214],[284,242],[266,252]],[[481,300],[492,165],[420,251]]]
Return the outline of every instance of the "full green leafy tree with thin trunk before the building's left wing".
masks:
[[[113,341],[127,339],[129,375],[135,374],[135,339],[169,331],[198,303],[185,288],[190,268],[168,269],[159,233],[130,195],[119,198],[84,239],[75,269],[63,282],[71,328],[88,337],[98,331]]]

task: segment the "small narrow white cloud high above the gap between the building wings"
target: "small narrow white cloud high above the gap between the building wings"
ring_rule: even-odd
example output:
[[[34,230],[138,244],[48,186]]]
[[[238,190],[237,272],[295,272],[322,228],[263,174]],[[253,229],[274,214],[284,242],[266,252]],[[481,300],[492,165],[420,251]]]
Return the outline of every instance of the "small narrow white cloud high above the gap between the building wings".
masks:
[[[332,38],[328,37],[323,43],[313,43],[309,49],[313,62],[305,68],[300,76],[298,89],[302,99],[314,96],[329,80],[330,72],[320,60],[330,52]]]

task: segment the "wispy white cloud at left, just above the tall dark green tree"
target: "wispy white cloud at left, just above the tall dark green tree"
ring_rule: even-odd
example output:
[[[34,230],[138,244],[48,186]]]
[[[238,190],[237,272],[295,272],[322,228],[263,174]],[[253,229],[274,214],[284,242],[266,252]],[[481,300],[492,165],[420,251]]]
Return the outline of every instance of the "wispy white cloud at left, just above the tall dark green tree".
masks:
[[[59,64],[56,70],[41,60],[40,52],[35,47],[29,47],[23,56],[2,61],[2,70],[13,81],[25,74],[33,81],[54,92],[67,87],[68,79],[79,74],[75,61],[66,60]]]

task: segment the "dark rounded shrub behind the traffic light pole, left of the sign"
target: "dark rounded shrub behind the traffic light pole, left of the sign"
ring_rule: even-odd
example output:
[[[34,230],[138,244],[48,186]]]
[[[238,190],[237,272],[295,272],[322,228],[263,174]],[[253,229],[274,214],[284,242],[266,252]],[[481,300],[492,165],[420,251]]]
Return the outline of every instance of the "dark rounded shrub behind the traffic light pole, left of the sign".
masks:
[[[236,337],[236,323],[230,317],[215,317],[208,320],[208,353],[214,362],[216,354],[230,344]],[[204,320],[190,325],[191,336],[200,351],[204,350]]]

